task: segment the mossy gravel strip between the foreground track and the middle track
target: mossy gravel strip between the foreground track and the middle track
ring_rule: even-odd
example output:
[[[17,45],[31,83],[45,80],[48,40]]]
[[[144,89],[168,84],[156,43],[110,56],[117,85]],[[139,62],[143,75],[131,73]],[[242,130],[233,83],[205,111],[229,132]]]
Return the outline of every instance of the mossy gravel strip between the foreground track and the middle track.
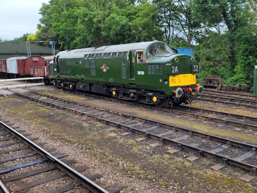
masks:
[[[98,100],[94,100],[94,102],[98,102]],[[101,101],[98,103],[101,104]],[[113,103],[109,104],[113,105]],[[142,136],[121,136],[119,134],[123,133],[123,130],[110,128],[106,125],[97,127],[99,123],[88,124],[83,117],[75,115],[67,118],[60,113],[42,110],[43,108],[18,99],[2,98],[0,105],[1,116],[5,117],[4,120],[19,121],[21,127],[19,130],[26,128],[27,133],[33,133],[30,138],[39,137],[37,143],[47,142],[44,147],[58,148],[57,151],[51,153],[66,153],[68,155],[61,160],[77,160],[78,162],[72,167],[89,166],[88,170],[82,172],[85,176],[96,173],[103,175],[102,178],[96,180],[96,183],[104,188],[117,185],[123,188],[122,192],[149,193],[252,193],[256,191],[254,188],[256,179],[251,183],[245,183],[236,178],[236,175],[231,177],[230,173],[233,172],[233,167],[228,167],[228,171],[224,171],[225,174],[223,174],[208,169],[216,164],[215,160],[200,158],[196,162],[186,161],[185,158],[192,156],[192,152],[180,151],[171,156],[166,152],[174,148],[172,146],[161,145],[152,148],[149,144],[156,143],[155,140],[135,142],[134,139]],[[119,104],[116,107],[121,108],[121,106]],[[142,112],[141,108],[138,110]],[[166,116],[169,115],[166,113]],[[22,119],[20,120],[20,118]],[[106,131],[106,129],[112,129],[112,131]],[[0,167],[2,168],[1,164]],[[42,164],[35,167],[42,167]],[[23,171],[25,170],[23,169]],[[19,173],[22,170],[13,173],[17,174],[16,172]],[[54,171],[47,175],[51,175],[52,172]],[[38,174],[31,179],[22,179],[22,181],[17,181],[16,185],[40,178],[40,175],[45,174]],[[70,182],[68,179],[65,181],[65,183]],[[47,182],[30,189],[29,192],[45,192],[46,189],[43,191],[43,188],[51,190],[57,185],[60,186],[58,183],[63,182],[60,179]],[[78,187],[76,192],[85,191]]]

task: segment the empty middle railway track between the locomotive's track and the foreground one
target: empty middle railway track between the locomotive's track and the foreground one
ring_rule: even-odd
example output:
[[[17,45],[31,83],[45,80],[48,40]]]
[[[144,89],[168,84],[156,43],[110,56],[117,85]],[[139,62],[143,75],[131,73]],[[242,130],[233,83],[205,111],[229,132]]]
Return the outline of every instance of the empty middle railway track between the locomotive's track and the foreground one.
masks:
[[[102,124],[100,124],[100,126],[106,124],[128,131],[122,135],[138,133],[144,136],[136,139],[138,141],[146,140],[147,138],[158,140],[158,142],[154,143],[152,146],[163,143],[176,146],[176,148],[168,151],[168,153],[175,153],[186,149],[195,152],[195,156],[189,158],[191,160],[202,156],[215,158],[220,161],[220,163],[212,166],[215,170],[231,164],[248,170],[248,174],[242,178],[252,179],[257,176],[255,156],[257,154],[257,146],[255,145],[209,135],[184,127],[149,120],[91,104],[76,102],[42,93],[39,94],[37,92],[34,93],[36,94],[34,96],[27,96],[19,93],[16,94],[17,98],[23,99],[26,102],[33,102],[39,107],[44,107],[55,112],[64,111],[63,113],[67,112],[67,115],[71,115],[70,112],[84,115],[90,120],[101,122]],[[42,98],[42,95],[47,98],[40,99]],[[206,142],[211,145],[206,145]],[[237,153],[228,155],[231,151]]]

